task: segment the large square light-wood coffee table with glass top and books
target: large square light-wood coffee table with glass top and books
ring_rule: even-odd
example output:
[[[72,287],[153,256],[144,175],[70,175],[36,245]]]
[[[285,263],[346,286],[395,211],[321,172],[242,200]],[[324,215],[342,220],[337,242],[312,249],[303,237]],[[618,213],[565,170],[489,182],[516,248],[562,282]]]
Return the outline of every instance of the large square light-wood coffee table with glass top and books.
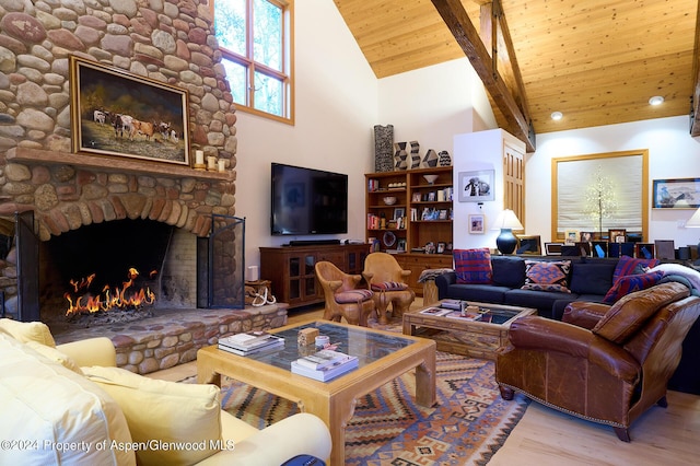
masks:
[[[300,357],[296,336],[302,328],[318,328],[339,351],[357,356],[360,366],[329,382],[292,374],[290,363]],[[284,337],[284,348],[240,357],[217,346],[197,352],[197,382],[221,386],[221,375],[290,399],[301,411],[324,420],[330,430],[330,464],[345,465],[346,426],[358,398],[416,368],[416,401],[435,404],[435,341],[329,321],[310,321],[270,330]],[[303,348],[301,349],[304,350]]]

